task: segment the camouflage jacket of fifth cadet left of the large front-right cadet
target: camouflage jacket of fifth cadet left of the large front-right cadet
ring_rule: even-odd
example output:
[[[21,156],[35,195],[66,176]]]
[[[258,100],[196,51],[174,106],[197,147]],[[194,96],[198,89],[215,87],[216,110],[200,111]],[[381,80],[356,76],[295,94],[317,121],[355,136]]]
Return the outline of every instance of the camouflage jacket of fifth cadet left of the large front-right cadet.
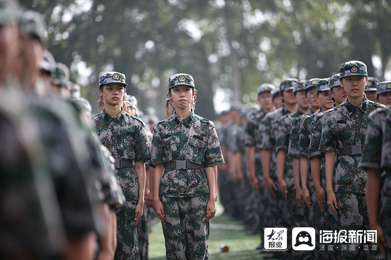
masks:
[[[270,177],[277,179],[277,152],[275,149],[278,120],[287,115],[289,110],[285,106],[276,109],[262,119],[258,128],[258,139],[256,143],[257,149],[272,150],[272,157],[270,160]]]

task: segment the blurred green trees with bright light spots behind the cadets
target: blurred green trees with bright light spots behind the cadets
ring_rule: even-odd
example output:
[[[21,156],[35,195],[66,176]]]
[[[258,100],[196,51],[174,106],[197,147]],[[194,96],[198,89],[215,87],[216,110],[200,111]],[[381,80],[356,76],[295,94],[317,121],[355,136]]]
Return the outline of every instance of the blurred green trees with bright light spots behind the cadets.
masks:
[[[125,73],[140,109],[152,106],[160,118],[168,77],[192,74],[197,113],[214,119],[217,88],[231,89],[231,101],[253,102],[261,83],[329,77],[353,59],[383,80],[391,55],[387,0],[20,1],[43,14],[49,51],[85,86],[94,111],[105,70]],[[87,81],[78,75],[84,66]]]

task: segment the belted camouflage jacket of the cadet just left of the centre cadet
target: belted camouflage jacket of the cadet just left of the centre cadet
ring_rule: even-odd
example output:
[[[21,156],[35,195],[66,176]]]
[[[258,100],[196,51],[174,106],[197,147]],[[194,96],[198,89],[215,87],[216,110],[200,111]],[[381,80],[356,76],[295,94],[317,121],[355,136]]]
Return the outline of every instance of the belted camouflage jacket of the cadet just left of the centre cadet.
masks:
[[[91,118],[94,129],[115,160],[147,161],[151,158],[145,123],[123,110],[113,118],[105,108]],[[134,168],[116,169],[117,177],[127,201],[138,201],[139,181]]]

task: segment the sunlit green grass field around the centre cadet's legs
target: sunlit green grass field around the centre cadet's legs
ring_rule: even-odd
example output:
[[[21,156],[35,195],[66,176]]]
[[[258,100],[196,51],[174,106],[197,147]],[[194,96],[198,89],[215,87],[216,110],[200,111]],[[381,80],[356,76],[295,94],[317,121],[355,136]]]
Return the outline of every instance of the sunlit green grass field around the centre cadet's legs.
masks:
[[[260,243],[259,235],[246,235],[243,226],[222,215],[223,207],[217,203],[217,214],[211,220],[209,258],[211,260],[259,260],[262,255],[255,248]],[[229,252],[222,253],[220,245],[226,244]],[[158,222],[149,237],[149,259],[165,260],[166,250],[161,223]]]

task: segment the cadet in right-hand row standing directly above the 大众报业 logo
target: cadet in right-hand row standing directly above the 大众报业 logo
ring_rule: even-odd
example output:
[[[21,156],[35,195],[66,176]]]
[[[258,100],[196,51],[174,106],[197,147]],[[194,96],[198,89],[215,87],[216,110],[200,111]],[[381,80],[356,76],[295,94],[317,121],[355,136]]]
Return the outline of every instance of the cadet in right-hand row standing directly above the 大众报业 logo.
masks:
[[[293,85],[296,79],[282,80],[280,83],[280,95],[284,105],[272,112],[266,114],[261,120],[258,128],[258,139],[256,148],[261,150],[261,164],[263,170],[263,179],[268,190],[269,204],[265,214],[267,220],[266,226],[287,226],[283,223],[282,208],[278,208],[277,202],[284,200],[281,190],[277,190],[277,152],[276,152],[276,132],[278,120],[288,113],[294,112],[297,108],[296,100],[293,94]],[[278,255],[272,254],[272,255]],[[269,256],[268,256],[269,257]]]

